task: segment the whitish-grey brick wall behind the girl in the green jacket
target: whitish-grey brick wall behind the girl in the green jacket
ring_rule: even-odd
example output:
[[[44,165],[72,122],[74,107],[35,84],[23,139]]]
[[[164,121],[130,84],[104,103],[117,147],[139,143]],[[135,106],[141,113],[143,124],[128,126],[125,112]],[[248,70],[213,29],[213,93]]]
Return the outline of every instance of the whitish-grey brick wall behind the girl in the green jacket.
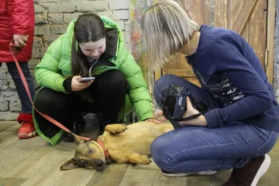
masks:
[[[45,54],[47,47],[67,29],[68,23],[82,13],[98,13],[115,20],[123,30],[126,47],[129,49],[129,0],[37,0],[36,28],[32,59],[29,61],[31,74],[33,68]],[[35,81],[36,83],[36,81]],[[36,84],[36,86],[38,86]],[[6,64],[0,68],[0,121],[15,120],[21,111],[20,99],[15,84],[7,72]]]

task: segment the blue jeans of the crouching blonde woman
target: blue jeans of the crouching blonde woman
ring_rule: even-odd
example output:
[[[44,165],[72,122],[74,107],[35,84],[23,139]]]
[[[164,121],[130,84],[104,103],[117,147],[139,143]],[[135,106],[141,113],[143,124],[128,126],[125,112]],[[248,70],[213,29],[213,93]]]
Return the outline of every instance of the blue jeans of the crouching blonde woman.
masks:
[[[193,97],[209,109],[220,102],[207,91],[174,75],[164,75],[155,84],[158,104],[165,99],[169,85],[185,86]],[[153,161],[171,173],[195,173],[243,167],[252,157],[262,156],[273,148],[278,132],[264,130],[241,122],[225,127],[186,126],[163,134],[151,144]]]

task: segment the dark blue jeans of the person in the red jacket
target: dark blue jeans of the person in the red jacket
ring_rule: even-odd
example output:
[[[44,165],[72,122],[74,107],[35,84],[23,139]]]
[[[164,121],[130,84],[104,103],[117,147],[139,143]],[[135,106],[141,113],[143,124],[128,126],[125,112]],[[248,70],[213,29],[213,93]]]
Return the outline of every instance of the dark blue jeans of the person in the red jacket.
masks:
[[[24,74],[24,77],[27,79],[27,84],[29,87],[29,91],[31,93],[32,100],[35,96],[35,86],[33,82],[33,77],[30,74],[30,70],[28,67],[28,62],[19,62],[20,67],[22,68],[22,72]],[[0,63],[0,67],[1,67]],[[8,72],[13,78],[13,82],[15,82],[15,87],[17,88],[17,94],[20,97],[20,102],[22,103],[22,113],[25,114],[32,114],[32,104],[29,100],[29,97],[27,95],[27,91],[25,91],[22,79],[20,78],[20,73],[17,70],[17,66],[15,65],[15,62],[8,62],[6,63],[8,67]]]

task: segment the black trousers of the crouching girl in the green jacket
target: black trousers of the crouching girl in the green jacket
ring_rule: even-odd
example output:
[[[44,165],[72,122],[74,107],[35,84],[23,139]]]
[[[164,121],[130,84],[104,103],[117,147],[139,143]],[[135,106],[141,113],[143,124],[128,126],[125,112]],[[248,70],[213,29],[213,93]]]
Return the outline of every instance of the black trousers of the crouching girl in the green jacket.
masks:
[[[105,125],[117,123],[119,111],[123,106],[127,93],[126,78],[119,70],[108,70],[96,79],[88,87],[94,102],[83,100],[75,93],[65,94],[43,88],[36,95],[35,107],[43,114],[47,114],[69,130],[73,130],[73,123],[79,121],[81,112],[102,113],[100,130]],[[36,119],[40,131],[46,137],[53,137],[60,128],[36,112]]]

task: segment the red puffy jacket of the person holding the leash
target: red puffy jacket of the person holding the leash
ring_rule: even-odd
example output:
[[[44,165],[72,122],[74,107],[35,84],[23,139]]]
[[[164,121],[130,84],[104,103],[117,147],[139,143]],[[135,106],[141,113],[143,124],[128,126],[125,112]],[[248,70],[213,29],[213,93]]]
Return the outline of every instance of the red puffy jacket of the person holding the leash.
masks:
[[[9,42],[13,35],[28,35],[27,46],[16,55],[18,61],[29,61],[33,47],[35,13],[33,0],[0,0],[0,62],[13,61]]]

